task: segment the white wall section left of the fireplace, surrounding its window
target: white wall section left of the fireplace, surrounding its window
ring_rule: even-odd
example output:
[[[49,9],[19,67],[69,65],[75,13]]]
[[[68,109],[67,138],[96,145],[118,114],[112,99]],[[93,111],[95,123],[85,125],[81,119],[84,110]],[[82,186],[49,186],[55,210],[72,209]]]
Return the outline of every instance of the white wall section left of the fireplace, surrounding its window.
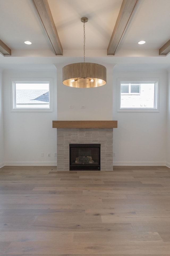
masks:
[[[53,112],[11,112],[11,78],[53,78]],[[4,135],[5,165],[56,165],[57,133],[52,121],[57,120],[56,69],[5,71]],[[41,157],[44,153],[44,157]],[[47,157],[50,153],[50,157]]]

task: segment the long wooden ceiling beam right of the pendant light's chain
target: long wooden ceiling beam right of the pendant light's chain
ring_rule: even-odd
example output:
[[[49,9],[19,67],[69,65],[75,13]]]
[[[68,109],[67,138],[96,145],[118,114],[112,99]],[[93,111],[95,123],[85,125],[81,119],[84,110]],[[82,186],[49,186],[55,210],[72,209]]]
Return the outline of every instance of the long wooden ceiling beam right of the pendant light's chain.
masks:
[[[107,55],[114,55],[122,37],[128,27],[128,24],[132,18],[132,13],[135,10],[139,0],[123,0],[111,40],[107,49]]]

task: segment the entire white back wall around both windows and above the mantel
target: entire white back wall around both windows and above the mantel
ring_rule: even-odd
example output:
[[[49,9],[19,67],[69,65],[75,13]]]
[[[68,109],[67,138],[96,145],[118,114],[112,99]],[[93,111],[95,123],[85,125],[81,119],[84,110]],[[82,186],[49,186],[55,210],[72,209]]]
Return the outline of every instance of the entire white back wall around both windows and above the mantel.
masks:
[[[10,78],[19,77],[53,78],[53,112],[10,111]],[[160,78],[160,112],[117,112],[117,78],[125,77]],[[3,98],[5,159],[1,147],[0,163],[5,165],[56,165],[53,155],[57,152],[57,133],[52,128],[53,120],[118,120],[118,128],[113,129],[113,152],[116,152],[113,165],[170,163],[170,102],[166,129],[167,73],[118,72],[108,68],[105,86],[76,89],[62,85],[61,68],[57,68],[57,75],[56,70],[5,71]],[[74,109],[69,109],[69,105],[74,105]],[[81,105],[86,108],[81,109]],[[2,140],[2,131],[0,135]],[[47,153],[51,153],[50,158]]]

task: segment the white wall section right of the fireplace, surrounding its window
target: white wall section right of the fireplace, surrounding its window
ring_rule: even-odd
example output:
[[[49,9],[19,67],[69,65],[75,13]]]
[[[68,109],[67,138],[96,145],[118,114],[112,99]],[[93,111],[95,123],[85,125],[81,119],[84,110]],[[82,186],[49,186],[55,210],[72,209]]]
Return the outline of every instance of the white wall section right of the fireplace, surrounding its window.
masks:
[[[167,73],[114,72],[113,165],[165,165]],[[160,112],[117,112],[117,78],[160,78]]]

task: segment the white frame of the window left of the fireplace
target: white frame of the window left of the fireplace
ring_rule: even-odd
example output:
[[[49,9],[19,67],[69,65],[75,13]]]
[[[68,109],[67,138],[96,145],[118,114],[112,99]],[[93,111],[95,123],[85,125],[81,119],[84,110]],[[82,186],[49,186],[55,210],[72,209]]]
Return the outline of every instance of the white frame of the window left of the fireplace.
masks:
[[[49,83],[49,107],[16,108],[16,83]],[[52,78],[11,78],[11,112],[52,112],[52,89]]]

